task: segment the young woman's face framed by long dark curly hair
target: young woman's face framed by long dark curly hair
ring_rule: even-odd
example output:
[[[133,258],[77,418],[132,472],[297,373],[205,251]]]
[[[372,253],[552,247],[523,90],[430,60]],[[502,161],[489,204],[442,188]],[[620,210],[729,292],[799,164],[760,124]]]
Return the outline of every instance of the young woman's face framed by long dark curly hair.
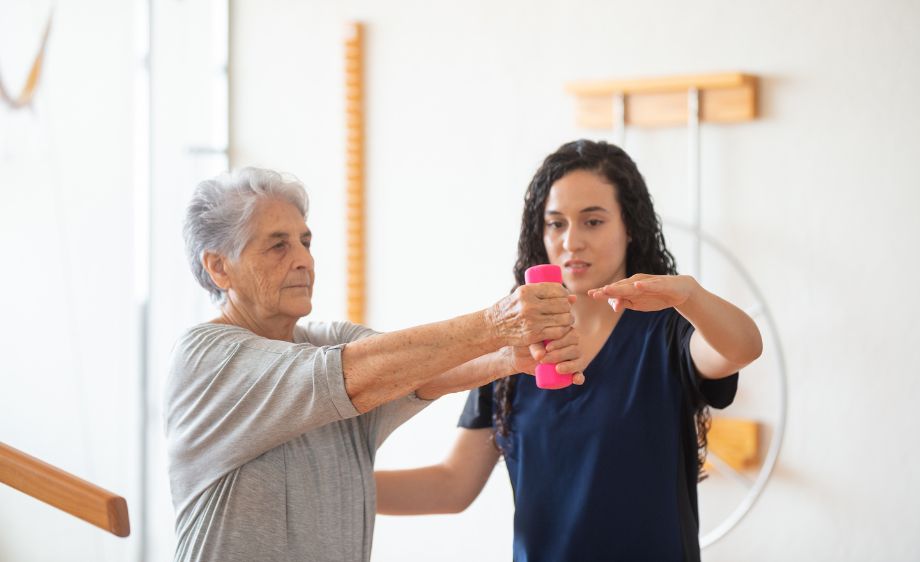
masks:
[[[543,244],[562,280],[580,294],[626,277],[629,236],[615,187],[587,170],[575,170],[550,188],[543,215]]]

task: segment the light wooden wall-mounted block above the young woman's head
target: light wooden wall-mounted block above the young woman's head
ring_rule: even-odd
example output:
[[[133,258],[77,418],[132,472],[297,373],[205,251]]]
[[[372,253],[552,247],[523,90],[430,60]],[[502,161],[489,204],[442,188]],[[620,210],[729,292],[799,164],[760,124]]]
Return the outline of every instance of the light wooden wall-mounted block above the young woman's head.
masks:
[[[583,80],[566,85],[576,99],[576,124],[612,129],[615,100],[623,97],[627,126],[664,127],[687,123],[687,94],[699,92],[700,121],[738,123],[757,117],[756,76],[740,72],[626,80]]]

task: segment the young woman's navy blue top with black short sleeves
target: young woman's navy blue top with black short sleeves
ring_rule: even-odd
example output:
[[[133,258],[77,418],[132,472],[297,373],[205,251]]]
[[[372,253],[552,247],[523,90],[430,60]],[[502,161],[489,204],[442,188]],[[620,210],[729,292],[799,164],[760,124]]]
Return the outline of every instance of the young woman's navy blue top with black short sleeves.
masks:
[[[541,390],[514,375],[511,433],[499,437],[514,489],[514,560],[699,560],[697,405],[724,408],[737,373],[702,379],[693,326],[674,309],[626,310],[585,384]],[[493,385],[461,427],[491,427]]]

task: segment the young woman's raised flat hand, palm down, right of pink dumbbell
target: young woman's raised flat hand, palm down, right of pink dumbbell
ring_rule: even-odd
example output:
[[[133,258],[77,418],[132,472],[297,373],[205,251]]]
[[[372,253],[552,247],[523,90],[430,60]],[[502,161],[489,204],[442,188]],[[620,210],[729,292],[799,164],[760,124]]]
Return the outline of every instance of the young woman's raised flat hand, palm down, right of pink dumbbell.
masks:
[[[700,288],[689,275],[647,275],[637,273],[599,289],[591,289],[588,296],[595,300],[607,299],[617,312],[624,308],[653,312],[680,306]]]

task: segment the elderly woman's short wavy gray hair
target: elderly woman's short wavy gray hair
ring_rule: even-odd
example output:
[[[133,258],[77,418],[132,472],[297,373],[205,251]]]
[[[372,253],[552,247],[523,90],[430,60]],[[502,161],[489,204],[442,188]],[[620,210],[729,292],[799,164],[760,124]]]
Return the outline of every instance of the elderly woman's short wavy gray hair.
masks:
[[[294,205],[306,220],[309,201],[303,184],[274,170],[242,168],[204,180],[195,188],[182,234],[192,274],[213,302],[222,304],[226,295],[204,268],[204,253],[238,259],[252,235],[249,220],[256,203],[268,198]]]

